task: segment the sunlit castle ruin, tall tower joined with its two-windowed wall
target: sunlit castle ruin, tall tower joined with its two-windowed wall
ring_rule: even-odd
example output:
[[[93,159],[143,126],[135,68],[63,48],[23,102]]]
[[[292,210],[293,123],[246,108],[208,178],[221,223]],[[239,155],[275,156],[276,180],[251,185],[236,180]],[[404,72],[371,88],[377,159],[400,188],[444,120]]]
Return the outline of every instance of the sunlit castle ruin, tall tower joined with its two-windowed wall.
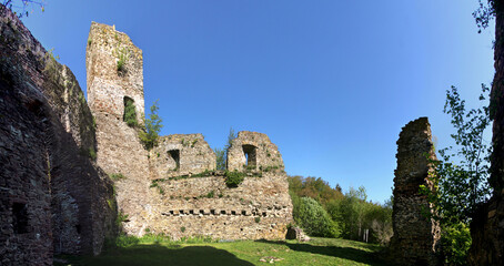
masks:
[[[202,134],[161,136],[148,152],[138,137],[140,129],[124,121],[127,104],[134,104],[138,124],[144,108],[142,51],[127,34],[93,22],[85,61],[97,164],[124,176],[114,185],[128,234],[162,233],[175,239],[285,236],[292,222],[289,184],[282,156],[265,134],[240,132],[232,142],[228,170],[245,177],[238,187],[228,187]]]

